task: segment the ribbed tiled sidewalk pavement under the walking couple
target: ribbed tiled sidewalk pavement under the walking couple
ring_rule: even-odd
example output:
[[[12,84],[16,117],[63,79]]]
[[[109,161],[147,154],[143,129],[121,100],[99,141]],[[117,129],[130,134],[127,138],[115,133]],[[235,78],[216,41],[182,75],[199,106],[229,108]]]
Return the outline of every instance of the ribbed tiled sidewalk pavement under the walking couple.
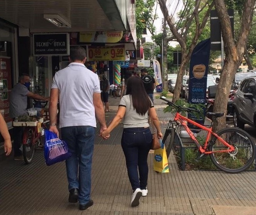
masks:
[[[113,98],[109,100],[115,105],[106,113],[107,123],[117,109]],[[155,104],[160,106],[161,101]],[[164,132],[170,114],[162,107],[157,113]],[[43,151],[36,151],[30,165],[11,157],[0,161],[0,215],[256,215],[255,172],[180,171],[170,155],[170,173],[157,173],[153,153],[148,156],[148,196],[140,198],[138,207],[130,207],[132,190],[121,132],[122,124],[109,139],[96,138],[92,207],[80,211],[78,203],[68,203],[65,163],[46,166]]]

